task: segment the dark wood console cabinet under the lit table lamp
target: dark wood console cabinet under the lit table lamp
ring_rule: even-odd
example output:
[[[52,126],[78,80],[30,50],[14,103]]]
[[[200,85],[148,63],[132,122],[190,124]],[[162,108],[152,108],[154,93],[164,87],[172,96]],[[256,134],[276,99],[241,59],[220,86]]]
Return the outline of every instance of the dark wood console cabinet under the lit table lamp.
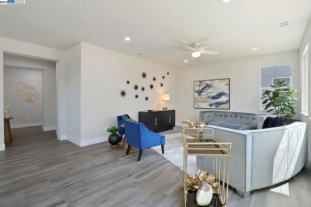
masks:
[[[153,132],[164,132],[175,126],[175,110],[139,111],[138,122]]]

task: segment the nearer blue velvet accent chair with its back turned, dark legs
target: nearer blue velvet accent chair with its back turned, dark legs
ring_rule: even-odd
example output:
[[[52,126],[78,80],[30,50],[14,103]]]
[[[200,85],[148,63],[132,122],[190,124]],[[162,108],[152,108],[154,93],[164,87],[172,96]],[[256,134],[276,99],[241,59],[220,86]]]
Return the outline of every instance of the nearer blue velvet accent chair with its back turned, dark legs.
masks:
[[[138,160],[142,150],[161,145],[164,154],[165,136],[149,130],[145,124],[136,121],[124,121],[126,143],[128,144],[126,155],[130,152],[131,146],[139,149]]]

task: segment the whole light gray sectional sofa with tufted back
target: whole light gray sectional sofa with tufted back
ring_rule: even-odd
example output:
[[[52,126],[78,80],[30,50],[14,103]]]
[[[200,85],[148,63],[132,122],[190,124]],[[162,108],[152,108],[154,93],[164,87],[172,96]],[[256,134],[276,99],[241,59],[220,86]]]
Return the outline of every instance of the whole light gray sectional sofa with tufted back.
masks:
[[[207,127],[213,129],[216,137],[232,143],[229,185],[244,198],[253,190],[290,179],[307,164],[306,123],[296,121],[289,125],[262,129],[265,117],[239,112],[200,112],[200,121],[206,121]],[[258,129],[233,128],[239,125]],[[197,156],[198,168],[210,173],[212,166],[211,156]]]

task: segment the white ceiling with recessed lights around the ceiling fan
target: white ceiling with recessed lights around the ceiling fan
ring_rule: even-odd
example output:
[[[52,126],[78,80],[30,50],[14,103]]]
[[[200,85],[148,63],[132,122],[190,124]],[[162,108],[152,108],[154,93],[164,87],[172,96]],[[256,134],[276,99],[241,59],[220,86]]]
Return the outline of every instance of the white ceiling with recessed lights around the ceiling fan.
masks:
[[[0,36],[60,50],[86,42],[178,68],[298,49],[310,18],[311,0],[26,0],[0,5]],[[194,42],[220,53],[174,55]]]

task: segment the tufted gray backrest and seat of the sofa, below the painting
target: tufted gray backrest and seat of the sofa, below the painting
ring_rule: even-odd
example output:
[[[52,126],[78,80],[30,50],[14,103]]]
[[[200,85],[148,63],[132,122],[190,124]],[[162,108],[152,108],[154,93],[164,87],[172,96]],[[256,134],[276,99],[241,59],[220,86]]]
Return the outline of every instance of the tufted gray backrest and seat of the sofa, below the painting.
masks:
[[[206,125],[237,130],[261,129],[265,117],[270,115],[231,111],[200,111],[200,121]]]

